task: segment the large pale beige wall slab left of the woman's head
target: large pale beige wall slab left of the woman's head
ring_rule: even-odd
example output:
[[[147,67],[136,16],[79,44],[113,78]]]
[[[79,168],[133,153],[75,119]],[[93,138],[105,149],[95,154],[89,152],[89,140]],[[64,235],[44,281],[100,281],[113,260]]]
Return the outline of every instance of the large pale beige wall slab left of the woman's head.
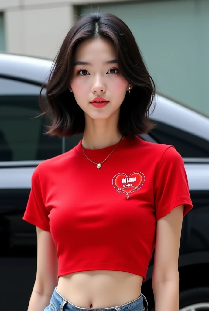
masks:
[[[21,53],[53,58],[73,21],[72,6],[7,11],[6,48]]]

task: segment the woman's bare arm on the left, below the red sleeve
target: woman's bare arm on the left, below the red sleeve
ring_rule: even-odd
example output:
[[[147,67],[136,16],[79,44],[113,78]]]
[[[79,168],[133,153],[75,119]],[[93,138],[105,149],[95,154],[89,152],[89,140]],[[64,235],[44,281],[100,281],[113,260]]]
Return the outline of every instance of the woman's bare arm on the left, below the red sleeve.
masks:
[[[37,270],[27,311],[44,311],[58,284],[57,248],[49,231],[36,226]]]

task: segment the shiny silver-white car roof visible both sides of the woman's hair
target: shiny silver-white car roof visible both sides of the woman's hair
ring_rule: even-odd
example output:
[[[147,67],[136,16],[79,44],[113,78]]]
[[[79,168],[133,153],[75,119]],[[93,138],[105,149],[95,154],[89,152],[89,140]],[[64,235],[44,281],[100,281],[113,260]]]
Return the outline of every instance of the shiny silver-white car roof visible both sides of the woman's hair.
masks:
[[[0,77],[15,78],[41,85],[47,81],[52,65],[52,60],[0,53]],[[155,109],[153,104],[150,111],[151,119],[209,141],[209,118],[207,116],[160,94],[156,94],[155,102]]]

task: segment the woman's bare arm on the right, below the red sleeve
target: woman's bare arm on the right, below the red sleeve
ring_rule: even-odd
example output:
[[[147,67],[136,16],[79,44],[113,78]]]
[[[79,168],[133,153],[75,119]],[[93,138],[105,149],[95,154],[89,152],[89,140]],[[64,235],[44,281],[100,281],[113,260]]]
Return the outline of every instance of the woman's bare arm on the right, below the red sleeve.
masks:
[[[152,288],[155,311],[179,311],[179,246],[184,205],[157,220]]]

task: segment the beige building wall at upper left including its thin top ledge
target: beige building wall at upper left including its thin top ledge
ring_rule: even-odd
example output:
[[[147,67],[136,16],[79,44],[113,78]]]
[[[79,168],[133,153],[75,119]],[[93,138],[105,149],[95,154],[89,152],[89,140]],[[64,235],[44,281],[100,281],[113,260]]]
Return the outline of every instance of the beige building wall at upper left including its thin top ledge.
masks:
[[[0,11],[5,14],[6,51],[53,59],[75,22],[76,5],[85,3],[83,0],[0,0]]]

